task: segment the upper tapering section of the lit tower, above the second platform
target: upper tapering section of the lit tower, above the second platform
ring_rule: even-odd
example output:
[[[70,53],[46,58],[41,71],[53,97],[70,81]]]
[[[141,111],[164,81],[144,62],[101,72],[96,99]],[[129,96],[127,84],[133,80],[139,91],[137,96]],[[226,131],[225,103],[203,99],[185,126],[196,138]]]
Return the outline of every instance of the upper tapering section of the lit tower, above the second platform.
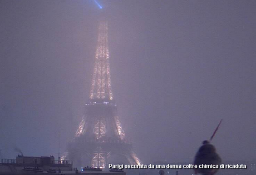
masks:
[[[90,99],[112,100],[110,79],[109,46],[107,41],[107,21],[99,23],[99,34],[95,54]]]

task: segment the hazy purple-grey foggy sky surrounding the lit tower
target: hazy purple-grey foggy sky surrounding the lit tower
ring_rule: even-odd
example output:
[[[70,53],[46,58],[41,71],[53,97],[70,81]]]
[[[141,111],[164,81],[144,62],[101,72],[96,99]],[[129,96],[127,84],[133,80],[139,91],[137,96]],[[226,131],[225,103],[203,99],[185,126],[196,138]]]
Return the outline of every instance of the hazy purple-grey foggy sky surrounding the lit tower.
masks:
[[[256,157],[255,1],[99,1],[112,88],[144,163]],[[0,1],[0,149],[66,151],[88,101],[101,9],[94,1]],[[60,136],[60,137],[59,137]]]

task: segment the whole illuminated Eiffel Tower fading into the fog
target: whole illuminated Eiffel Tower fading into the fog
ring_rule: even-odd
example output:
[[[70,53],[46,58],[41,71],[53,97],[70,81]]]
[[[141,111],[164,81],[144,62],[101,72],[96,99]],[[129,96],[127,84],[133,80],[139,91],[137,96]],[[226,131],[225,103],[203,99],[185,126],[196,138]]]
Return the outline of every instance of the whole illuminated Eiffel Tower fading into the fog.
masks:
[[[141,164],[126,140],[114,102],[109,62],[107,22],[99,25],[99,36],[89,102],[75,138],[68,144],[68,159],[78,166],[105,168],[110,156],[124,156],[130,164]]]

